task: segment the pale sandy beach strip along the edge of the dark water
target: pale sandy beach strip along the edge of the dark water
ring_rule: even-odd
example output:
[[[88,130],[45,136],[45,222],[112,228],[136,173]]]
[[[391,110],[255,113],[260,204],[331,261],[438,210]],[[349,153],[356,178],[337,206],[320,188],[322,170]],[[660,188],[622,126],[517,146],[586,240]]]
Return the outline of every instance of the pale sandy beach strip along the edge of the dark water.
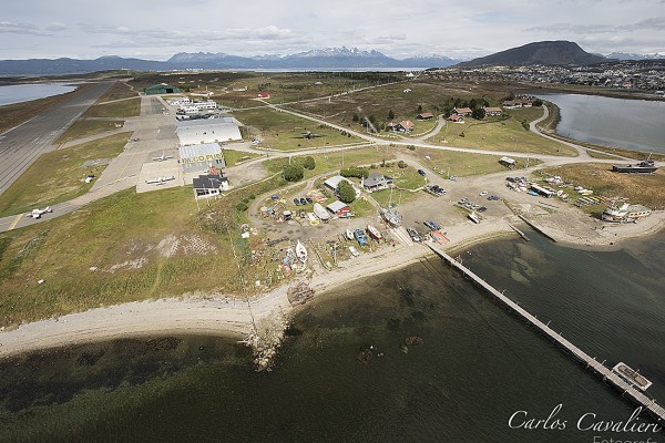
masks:
[[[480,243],[518,236],[509,225],[511,222],[518,223],[516,220],[504,217],[497,222],[475,225],[474,229],[469,229],[468,224],[452,226],[447,230],[447,235],[453,241],[447,245],[446,249],[451,254],[459,254],[460,250]],[[605,229],[606,226],[608,225],[601,229],[592,227],[595,235],[582,241],[563,229],[539,224],[539,227],[564,247],[616,250],[628,240],[647,238],[662,230],[665,227],[665,212],[657,212],[640,224],[631,226],[613,225]],[[383,246],[364,254],[361,258],[341,261],[332,271],[316,267],[309,279],[296,279],[249,300],[221,293],[191,293],[180,298],[94,308],[59,318],[21,323],[16,329],[0,331],[0,358],[65,346],[152,336],[206,334],[237,338],[242,341],[256,333],[257,328],[264,328],[265,324],[274,323],[275,320],[287,318],[300,310],[299,306],[293,307],[288,301],[287,289],[290,285],[306,281],[316,291],[315,298],[329,297],[330,292],[344,285],[408,267],[430,255],[433,256],[433,253],[421,244]]]

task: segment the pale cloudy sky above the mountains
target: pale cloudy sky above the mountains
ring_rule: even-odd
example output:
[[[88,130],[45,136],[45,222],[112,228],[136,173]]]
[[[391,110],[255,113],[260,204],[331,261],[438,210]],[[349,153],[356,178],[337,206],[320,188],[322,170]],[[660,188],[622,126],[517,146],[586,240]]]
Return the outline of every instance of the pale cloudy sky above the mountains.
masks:
[[[665,0],[20,0],[0,10],[2,60],[339,47],[472,59],[543,40],[665,54]]]

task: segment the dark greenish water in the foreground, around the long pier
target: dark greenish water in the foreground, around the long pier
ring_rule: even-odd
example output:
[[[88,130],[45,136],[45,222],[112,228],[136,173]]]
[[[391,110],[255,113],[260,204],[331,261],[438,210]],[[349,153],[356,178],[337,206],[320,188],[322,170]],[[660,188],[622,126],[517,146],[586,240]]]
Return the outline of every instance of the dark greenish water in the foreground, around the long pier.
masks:
[[[583,350],[640,368],[665,402],[665,235],[590,253],[528,234],[461,256]],[[402,353],[416,334],[423,344]],[[385,357],[359,364],[370,344]],[[626,421],[634,406],[437,258],[319,295],[273,373],[249,360],[233,341],[182,337],[4,362],[0,441],[663,440],[576,430],[585,413]],[[565,429],[509,426],[559,404]]]

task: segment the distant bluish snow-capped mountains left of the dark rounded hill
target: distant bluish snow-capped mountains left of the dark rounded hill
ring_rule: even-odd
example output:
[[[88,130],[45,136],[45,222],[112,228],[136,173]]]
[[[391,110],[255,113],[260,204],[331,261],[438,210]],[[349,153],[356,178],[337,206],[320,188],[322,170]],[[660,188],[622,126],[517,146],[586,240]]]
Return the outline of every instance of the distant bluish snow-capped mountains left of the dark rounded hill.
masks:
[[[255,56],[225,53],[180,52],[166,61],[127,59],[115,55],[93,60],[29,59],[0,60],[0,76],[58,75],[94,71],[130,69],[136,71],[170,71],[183,69],[234,70],[234,69],[410,69],[446,68],[460,62],[443,55],[392,59],[378,51],[357,48],[327,48],[295,54],[266,54]]]

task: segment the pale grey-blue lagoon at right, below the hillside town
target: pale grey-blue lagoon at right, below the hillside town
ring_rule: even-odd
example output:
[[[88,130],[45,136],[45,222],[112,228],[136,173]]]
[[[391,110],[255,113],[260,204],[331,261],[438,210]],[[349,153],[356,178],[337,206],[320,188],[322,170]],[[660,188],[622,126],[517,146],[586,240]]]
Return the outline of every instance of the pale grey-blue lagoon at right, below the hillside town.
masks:
[[[561,109],[556,133],[582,142],[665,153],[665,102],[548,94]]]

